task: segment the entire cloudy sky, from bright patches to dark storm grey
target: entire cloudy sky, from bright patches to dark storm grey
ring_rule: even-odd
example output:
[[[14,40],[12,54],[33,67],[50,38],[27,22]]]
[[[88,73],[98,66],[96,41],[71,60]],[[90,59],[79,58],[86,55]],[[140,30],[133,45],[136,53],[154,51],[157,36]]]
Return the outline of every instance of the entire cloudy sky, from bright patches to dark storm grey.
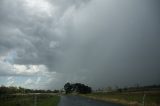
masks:
[[[160,84],[159,0],[0,0],[0,85]]]

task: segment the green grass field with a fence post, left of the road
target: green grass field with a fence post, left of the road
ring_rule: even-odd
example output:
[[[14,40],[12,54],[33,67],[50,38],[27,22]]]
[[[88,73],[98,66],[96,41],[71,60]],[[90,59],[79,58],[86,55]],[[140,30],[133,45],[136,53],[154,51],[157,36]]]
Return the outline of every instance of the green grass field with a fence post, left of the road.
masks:
[[[0,106],[57,106],[60,100],[56,95],[1,95]],[[36,103],[35,103],[36,101]]]

